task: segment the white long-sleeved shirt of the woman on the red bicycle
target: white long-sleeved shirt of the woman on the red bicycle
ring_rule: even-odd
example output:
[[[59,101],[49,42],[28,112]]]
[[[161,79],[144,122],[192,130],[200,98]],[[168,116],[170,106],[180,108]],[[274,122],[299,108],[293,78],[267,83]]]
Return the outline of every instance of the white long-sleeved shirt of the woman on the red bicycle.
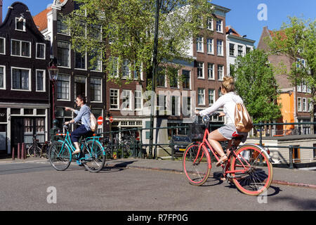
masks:
[[[218,108],[223,107],[227,124],[233,124],[235,121],[236,103],[244,103],[244,101],[242,101],[242,98],[235,94],[235,92],[229,92],[218,98],[218,100],[210,108],[200,111],[199,115],[208,115],[214,113],[218,110]]]

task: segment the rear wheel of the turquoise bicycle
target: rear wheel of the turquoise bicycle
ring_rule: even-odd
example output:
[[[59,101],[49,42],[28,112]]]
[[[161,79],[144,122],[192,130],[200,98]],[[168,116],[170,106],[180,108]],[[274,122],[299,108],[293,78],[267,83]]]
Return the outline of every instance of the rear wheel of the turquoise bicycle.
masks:
[[[83,165],[89,172],[97,173],[103,169],[105,165],[105,151],[99,142],[93,140],[87,141],[82,152],[85,157]]]

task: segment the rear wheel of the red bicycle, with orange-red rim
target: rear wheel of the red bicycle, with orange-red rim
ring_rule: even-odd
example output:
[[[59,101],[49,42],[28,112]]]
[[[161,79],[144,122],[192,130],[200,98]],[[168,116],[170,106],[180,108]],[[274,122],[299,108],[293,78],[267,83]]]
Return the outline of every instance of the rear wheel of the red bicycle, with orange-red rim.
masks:
[[[242,146],[232,155],[230,170],[235,186],[246,195],[260,195],[272,182],[273,168],[267,155],[256,146]],[[246,169],[244,169],[246,167]]]

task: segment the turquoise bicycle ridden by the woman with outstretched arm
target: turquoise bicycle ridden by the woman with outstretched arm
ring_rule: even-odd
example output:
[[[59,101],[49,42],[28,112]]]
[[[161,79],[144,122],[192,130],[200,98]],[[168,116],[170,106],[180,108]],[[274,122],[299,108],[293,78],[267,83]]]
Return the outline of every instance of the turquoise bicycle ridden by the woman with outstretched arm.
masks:
[[[55,141],[48,150],[48,161],[58,171],[63,171],[70,166],[72,162],[72,153],[76,148],[71,139],[67,125],[64,125],[67,134],[58,134],[65,136],[65,139]],[[79,165],[84,165],[89,172],[100,172],[105,165],[105,149],[100,141],[100,136],[84,137],[81,140],[81,153],[74,155]]]

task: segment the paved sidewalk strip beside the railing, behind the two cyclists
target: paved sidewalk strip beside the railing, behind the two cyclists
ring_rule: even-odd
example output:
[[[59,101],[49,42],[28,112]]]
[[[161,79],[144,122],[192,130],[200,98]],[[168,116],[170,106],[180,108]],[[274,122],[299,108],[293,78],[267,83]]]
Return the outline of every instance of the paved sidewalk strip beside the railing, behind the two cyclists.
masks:
[[[0,165],[5,165],[7,163],[25,162],[47,162],[47,160],[46,158],[27,158],[27,160],[1,159]],[[106,167],[122,167],[128,169],[152,169],[157,170],[159,172],[183,172],[182,161],[180,160],[143,160],[138,158],[128,158],[119,160],[107,160],[106,164]],[[216,167],[215,164],[212,164],[210,176],[213,176],[213,174],[218,175],[221,172],[221,167]],[[302,169],[284,169],[274,167],[272,184],[301,186],[316,189],[316,171]]]

